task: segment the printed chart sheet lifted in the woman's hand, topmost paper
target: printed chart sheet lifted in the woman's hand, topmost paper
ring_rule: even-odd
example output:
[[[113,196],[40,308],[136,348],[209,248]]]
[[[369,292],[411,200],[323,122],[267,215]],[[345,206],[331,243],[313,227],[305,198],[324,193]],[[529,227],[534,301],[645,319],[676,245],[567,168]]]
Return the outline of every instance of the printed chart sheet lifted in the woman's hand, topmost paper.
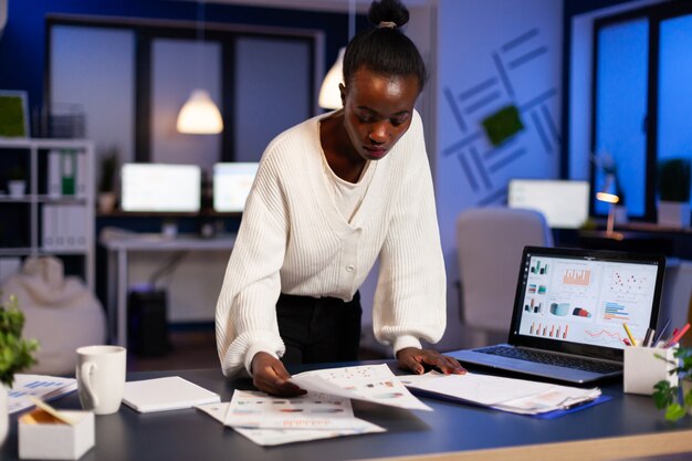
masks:
[[[409,410],[432,411],[399,381],[387,365],[326,368],[294,375],[302,389]]]

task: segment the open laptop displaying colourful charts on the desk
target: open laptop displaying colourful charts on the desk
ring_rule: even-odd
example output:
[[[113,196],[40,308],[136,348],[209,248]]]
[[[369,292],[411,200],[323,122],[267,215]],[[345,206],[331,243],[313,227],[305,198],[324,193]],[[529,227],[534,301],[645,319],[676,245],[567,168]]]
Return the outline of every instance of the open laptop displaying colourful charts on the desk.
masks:
[[[622,324],[637,340],[656,327],[664,268],[660,254],[526,247],[507,344],[448,355],[572,384],[617,377]]]

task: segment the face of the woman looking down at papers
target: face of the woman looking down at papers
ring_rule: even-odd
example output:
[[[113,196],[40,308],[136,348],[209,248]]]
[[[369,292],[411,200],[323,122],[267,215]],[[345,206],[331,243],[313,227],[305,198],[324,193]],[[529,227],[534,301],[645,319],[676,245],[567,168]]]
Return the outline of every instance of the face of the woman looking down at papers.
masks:
[[[340,90],[344,125],[353,147],[364,159],[379,160],[411,125],[418,78],[384,76],[360,67]]]

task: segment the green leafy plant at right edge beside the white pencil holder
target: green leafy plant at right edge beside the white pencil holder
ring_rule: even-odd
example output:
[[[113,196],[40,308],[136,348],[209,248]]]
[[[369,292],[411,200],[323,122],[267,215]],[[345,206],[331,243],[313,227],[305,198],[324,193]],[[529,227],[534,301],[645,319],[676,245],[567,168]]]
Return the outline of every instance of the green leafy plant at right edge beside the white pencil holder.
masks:
[[[653,386],[656,407],[665,409],[665,419],[669,421],[679,420],[685,412],[692,415],[692,348],[680,347],[673,357],[672,365],[675,368],[670,373],[678,374],[680,386],[671,386],[665,379]]]

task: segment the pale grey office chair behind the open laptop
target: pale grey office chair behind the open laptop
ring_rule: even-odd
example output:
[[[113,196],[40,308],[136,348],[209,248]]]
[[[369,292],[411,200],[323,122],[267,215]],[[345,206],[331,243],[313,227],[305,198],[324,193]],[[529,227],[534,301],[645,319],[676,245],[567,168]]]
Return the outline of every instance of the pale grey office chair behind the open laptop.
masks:
[[[469,347],[506,340],[525,245],[553,245],[551,229],[538,211],[492,207],[459,214],[460,316],[473,333],[474,344]]]

